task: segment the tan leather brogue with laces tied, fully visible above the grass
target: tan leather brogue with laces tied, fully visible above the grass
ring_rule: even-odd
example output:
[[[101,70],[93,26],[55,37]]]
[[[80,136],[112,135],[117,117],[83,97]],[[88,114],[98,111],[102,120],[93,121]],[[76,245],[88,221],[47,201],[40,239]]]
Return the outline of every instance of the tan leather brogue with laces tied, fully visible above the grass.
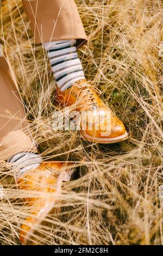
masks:
[[[60,107],[72,106],[80,113],[78,123],[83,138],[90,142],[115,143],[128,138],[128,133],[116,115],[99,98],[101,92],[90,82],[79,80],[65,92],[56,91]],[[77,116],[77,114],[76,114]]]

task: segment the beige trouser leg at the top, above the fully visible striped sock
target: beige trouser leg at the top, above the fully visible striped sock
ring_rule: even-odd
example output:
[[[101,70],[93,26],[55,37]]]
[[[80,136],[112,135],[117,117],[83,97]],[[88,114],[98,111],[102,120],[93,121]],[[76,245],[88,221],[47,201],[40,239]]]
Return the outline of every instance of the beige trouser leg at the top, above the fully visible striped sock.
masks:
[[[74,0],[22,1],[36,44],[77,39],[79,47],[86,42],[86,34]]]

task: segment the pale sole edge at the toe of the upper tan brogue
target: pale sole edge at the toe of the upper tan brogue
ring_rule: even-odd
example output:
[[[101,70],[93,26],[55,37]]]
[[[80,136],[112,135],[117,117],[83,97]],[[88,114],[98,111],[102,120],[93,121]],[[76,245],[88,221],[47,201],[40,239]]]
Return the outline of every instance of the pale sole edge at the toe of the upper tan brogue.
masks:
[[[94,142],[94,143],[102,143],[102,144],[117,143],[117,142],[125,141],[128,138],[127,131],[123,135],[114,137],[114,138],[96,138],[89,135],[84,135],[82,132],[80,132],[80,134],[84,139],[86,139],[86,141]]]

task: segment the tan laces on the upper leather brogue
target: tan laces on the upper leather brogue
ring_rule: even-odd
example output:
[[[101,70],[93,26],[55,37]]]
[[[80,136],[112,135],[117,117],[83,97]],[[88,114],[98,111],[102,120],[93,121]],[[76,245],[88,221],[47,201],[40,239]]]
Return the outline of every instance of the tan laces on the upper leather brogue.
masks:
[[[76,86],[81,89],[80,93],[83,93],[83,97],[89,97],[90,101],[88,102],[88,105],[93,105],[98,103],[95,97],[95,94],[93,92],[97,93],[98,95],[101,95],[102,92],[96,86],[93,86],[91,84],[91,81],[86,81],[82,84],[73,83],[73,86]]]

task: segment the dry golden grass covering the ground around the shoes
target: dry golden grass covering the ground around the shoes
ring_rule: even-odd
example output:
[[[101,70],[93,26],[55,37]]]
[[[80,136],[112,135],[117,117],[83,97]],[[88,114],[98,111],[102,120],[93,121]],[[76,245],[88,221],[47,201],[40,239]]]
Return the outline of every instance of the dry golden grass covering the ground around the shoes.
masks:
[[[81,175],[62,187],[61,217],[49,216],[55,228],[46,230],[43,243],[162,245],[162,1],[76,1],[89,36],[79,51],[86,77],[102,90],[129,133],[128,141],[112,145],[52,130],[55,82],[45,52],[34,45],[21,0],[1,2],[1,40],[41,154],[45,160],[77,162]],[[0,240],[17,245],[18,227],[29,209],[5,163],[0,175],[6,197],[0,205]]]

